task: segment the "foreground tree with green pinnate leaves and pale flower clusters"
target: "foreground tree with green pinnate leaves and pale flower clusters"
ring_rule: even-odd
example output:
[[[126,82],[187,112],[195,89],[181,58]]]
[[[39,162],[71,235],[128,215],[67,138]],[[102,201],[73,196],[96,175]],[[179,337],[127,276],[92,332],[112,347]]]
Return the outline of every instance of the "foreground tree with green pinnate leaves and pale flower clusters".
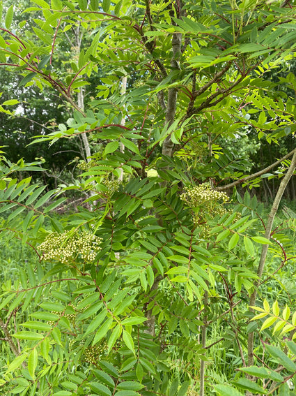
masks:
[[[258,184],[283,160],[245,175],[247,160],[223,142],[253,130],[272,145],[294,133],[295,104],[281,85],[294,87],[295,76],[264,79],[294,57],[293,5],[33,3],[27,12],[40,13],[31,26],[38,44],[10,31],[13,7],[8,8],[1,64],[19,72],[25,87],[52,87],[74,109],[58,131],[35,143],[54,145],[86,134],[103,142],[104,151],[81,163],[81,183],[70,187],[92,191],[87,201],[93,211],[79,208],[59,221],[51,211],[61,200],[45,205],[59,191],[42,196],[45,186],[18,180],[18,173],[36,164],[14,165],[3,157],[1,211],[13,210],[3,219],[3,235],[13,230],[40,259],[27,266],[28,277],[22,268],[20,282],[2,293],[7,314],[0,326],[16,356],[3,385],[22,395],[56,396],[286,392],[294,369],[287,352],[274,338],[268,353],[279,367],[259,367],[265,358],[258,345],[254,361],[257,324],[247,321],[254,316],[249,299],[252,309],[263,309],[256,320],[270,314],[267,302],[255,307],[257,291],[264,293],[268,245],[281,259],[279,268],[293,256],[287,254],[287,235],[276,233],[273,221],[295,169],[295,149],[283,159],[288,172],[265,226],[256,196],[234,194],[234,205],[224,191]],[[77,71],[63,75],[52,67],[56,45],[77,26],[88,29],[93,41],[81,48]],[[84,113],[75,94],[99,66],[106,76]],[[13,314],[22,324],[10,337]],[[278,320],[292,331],[295,320],[288,323],[289,317],[286,310],[280,319],[275,305],[261,330]],[[213,339],[219,326],[223,337]],[[218,343],[237,356],[220,379],[210,370],[206,377],[205,367]],[[294,344],[287,345],[294,353]],[[283,369],[289,374],[277,375]]]

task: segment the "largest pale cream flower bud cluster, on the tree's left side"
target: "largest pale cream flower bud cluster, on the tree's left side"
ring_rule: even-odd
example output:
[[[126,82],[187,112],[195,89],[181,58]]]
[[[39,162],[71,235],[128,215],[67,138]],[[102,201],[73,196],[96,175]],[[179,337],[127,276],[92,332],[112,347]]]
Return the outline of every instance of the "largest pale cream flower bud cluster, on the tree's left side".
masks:
[[[50,233],[39,249],[43,251],[43,260],[56,260],[71,263],[81,258],[82,261],[93,261],[102,248],[100,237],[86,230],[68,230],[62,234]]]

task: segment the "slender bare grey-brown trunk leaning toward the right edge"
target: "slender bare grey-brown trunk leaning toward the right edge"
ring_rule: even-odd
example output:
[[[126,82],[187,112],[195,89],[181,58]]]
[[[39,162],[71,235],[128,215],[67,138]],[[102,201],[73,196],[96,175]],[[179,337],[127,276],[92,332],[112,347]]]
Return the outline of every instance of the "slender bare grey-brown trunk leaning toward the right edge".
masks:
[[[293,154],[293,158],[291,160],[290,166],[288,168],[288,171],[286,175],[281,179],[281,184],[279,185],[279,190],[276,193],[276,197],[274,198],[274,202],[272,204],[272,209],[270,210],[270,214],[268,216],[267,220],[267,226],[265,229],[265,238],[268,240],[270,239],[270,234],[272,232],[272,225],[274,222],[274,217],[276,215],[276,212],[279,208],[279,204],[281,203],[281,198],[283,197],[283,193],[286,189],[286,186],[288,185],[288,182],[290,178],[292,177],[294,170],[296,167],[296,151]],[[266,256],[267,256],[267,251],[268,251],[268,244],[264,244],[262,247],[261,251],[261,256],[260,256],[260,262],[258,265],[258,280],[254,284],[254,292],[251,294],[250,298],[250,307],[254,307],[256,304],[256,296],[257,296],[257,290],[258,286],[260,284],[260,280],[262,278],[264,266],[265,266],[265,261],[266,261]],[[250,332],[248,335],[248,365],[254,365],[254,332]]]

